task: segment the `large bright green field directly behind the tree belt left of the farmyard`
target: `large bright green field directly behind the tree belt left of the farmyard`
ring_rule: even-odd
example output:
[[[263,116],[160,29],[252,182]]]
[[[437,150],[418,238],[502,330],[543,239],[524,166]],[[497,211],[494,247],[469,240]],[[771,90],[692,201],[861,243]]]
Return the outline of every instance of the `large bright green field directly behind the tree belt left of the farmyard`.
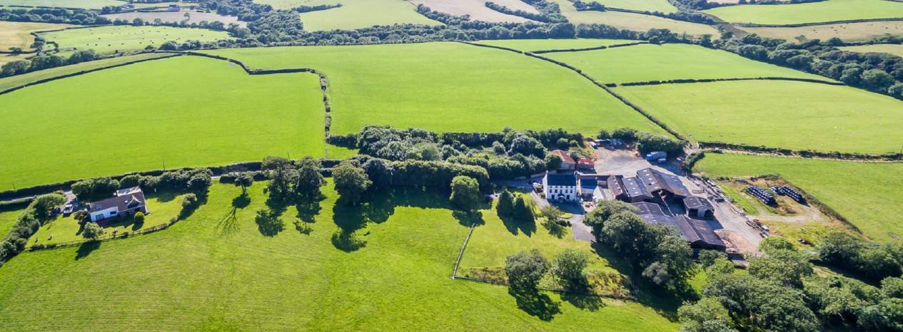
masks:
[[[562,127],[656,131],[646,118],[571,70],[458,42],[205,51],[254,69],[313,68],[330,79],[336,134],[366,124],[436,132]]]

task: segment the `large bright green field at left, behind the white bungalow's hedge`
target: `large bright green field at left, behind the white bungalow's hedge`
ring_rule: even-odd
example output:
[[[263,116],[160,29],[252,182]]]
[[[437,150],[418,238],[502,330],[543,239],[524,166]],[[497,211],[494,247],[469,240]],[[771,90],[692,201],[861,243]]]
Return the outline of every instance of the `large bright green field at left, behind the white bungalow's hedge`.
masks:
[[[0,189],[325,148],[316,75],[250,76],[200,57],[55,80],[0,105]]]

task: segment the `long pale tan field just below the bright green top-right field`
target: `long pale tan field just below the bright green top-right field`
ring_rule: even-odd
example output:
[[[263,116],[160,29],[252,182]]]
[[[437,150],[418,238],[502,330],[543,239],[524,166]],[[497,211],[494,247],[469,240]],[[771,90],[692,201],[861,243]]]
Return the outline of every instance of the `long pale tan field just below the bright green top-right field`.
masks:
[[[844,41],[858,41],[886,34],[903,34],[903,21],[824,24],[798,28],[742,27],[741,29],[764,37],[785,39],[787,41],[813,39],[827,41],[833,37]],[[803,38],[800,38],[800,36]]]

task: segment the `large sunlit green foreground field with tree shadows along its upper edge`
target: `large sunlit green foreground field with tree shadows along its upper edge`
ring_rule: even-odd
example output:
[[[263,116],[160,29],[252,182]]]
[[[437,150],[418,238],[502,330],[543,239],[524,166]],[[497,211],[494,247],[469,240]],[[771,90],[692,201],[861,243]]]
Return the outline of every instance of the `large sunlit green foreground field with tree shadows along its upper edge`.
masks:
[[[294,207],[257,224],[264,187],[235,208],[241,189],[214,185],[206,205],[162,232],[20,254],[0,269],[0,321],[11,330],[677,328],[635,302],[579,309],[572,301],[580,297],[541,292],[519,309],[507,287],[451,280],[468,226],[444,197],[396,193],[386,195],[392,204],[359,211],[334,206],[336,194],[324,189],[328,198],[303,234]],[[364,246],[333,241],[344,232]]]

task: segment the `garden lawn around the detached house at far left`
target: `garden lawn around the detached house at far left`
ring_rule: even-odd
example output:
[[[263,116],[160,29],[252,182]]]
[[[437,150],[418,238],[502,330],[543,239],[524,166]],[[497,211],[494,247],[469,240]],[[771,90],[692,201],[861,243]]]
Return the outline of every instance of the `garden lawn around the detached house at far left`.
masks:
[[[142,229],[166,224],[173,217],[179,216],[182,210],[182,194],[165,193],[157,195],[148,192],[146,196],[147,208],[150,214],[144,217],[143,224],[136,224],[133,217],[109,219],[104,225],[104,235],[132,233]],[[85,241],[81,235],[79,221],[74,215],[62,217],[62,215],[44,223],[38,232],[28,239],[28,246],[34,244],[62,244],[73,241]]]

